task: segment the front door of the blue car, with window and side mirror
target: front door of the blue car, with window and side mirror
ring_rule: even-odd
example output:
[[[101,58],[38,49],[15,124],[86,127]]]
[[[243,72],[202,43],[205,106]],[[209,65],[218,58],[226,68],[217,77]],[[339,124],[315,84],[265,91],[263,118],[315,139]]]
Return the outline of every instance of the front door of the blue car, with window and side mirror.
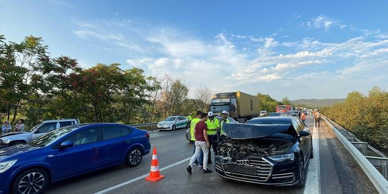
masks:
[[[57,173],[58,177],[87,172],[101,163],[98,136],[99,127],[88,127],[60,141],[62,143],[70,140],[74,145],[65,149],[57,148],[57,169],[60,169]]]

